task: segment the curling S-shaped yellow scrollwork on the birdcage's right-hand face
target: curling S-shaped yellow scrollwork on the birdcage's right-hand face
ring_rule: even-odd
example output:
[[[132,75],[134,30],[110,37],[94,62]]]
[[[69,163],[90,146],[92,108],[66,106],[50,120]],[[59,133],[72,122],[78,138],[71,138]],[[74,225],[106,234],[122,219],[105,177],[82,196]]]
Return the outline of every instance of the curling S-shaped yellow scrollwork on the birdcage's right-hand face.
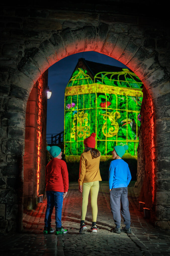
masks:
[[[119,124],[116,122],[116,115],[117,115],[117,119],[120,118],[120,113],[118,111],[116,112],[107,112],[106,114],[101,114],[99,113],[100,115],[103,116],[103,119],[106,121],[104,122],[103,126],[102,126],[102,133],[104,134],[104,136],[106,137],[113,137],[115,136],[118,131],[119,131]],[[109,130],[107,129],[107,119],[109,118],[110,122],[111,122],[111,125],[113,127],[110,127]],[[110,126],[110,125],[109,125]]]

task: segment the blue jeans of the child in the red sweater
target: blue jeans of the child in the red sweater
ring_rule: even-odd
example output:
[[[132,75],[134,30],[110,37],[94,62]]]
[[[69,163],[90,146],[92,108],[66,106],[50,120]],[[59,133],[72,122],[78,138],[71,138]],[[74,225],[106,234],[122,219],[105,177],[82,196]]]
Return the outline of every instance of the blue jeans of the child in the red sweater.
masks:
[[[47,209],[45,212],[45,226],[51,226],[51,214],[55,206],[55,218],[56,218],[56,228],[61,227],[61,213],[63,204],[63,192],[57,191],[46,191],[47,195]]]

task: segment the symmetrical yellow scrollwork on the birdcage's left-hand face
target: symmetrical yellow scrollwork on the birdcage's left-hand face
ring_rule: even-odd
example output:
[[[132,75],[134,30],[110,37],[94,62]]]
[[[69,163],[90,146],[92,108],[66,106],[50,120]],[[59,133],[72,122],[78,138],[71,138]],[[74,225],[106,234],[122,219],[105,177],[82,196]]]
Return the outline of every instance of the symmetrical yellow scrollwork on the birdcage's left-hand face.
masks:
[[[73,128],[71,133],[71,138],[77,140],[77,136],[79,138],[83,137],[83,140],[90,136],[90,126],[88,126],[88,114],[84,113],[84,111],[78,112],[74,114],[73,117]]]

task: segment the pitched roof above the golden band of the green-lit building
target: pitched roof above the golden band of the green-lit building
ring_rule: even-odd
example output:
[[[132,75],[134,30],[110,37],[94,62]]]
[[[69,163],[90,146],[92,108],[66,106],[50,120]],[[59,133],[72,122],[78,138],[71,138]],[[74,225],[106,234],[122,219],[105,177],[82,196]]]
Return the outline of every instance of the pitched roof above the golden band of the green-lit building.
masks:
[[[70,87],[93,82],[107,84],[109,86],[131,87],[137,89],[143,87],[140,79],[130,69],[80,58],[67,86]]]

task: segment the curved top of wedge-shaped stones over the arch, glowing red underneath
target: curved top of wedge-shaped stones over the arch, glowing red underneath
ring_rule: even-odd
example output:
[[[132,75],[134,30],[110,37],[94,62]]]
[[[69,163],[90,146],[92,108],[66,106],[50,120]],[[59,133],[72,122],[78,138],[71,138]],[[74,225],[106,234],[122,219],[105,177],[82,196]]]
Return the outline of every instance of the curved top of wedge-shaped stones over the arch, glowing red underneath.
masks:
[[[109,25],[104,23],[99,24],[99,27],[86,26],[75,30],[66,28],[54,33],[38,49],[26,51],[18,70],[35,83],[55,62],[68,55],[89,50],[106,54],[127,65],[139,76],[152,98],[155,87],[153,92],[151,88],[155,84],[150,81],[151,74],[158,73],[155,70],[160,67],[156,51],[150,53],[145,47],[136,46],[129,36],[109,31]]]

